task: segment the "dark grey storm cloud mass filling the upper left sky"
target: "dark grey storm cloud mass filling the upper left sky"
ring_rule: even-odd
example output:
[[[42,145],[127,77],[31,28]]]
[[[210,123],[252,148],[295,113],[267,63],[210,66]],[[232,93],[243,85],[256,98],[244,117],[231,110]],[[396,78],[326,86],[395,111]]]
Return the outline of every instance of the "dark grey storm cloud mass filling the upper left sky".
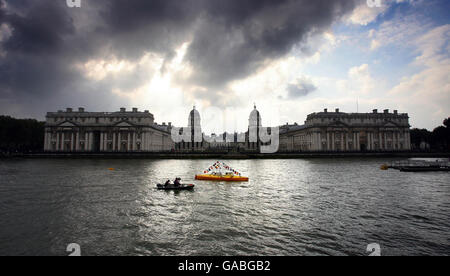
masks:
[[[0,99],[52,98],[58,107],[118,104],[113,88],[133,89],[151,76],[135,70],[126,79],[96,82],[76,65],[112,57],[136,61],[149,52],[169,61],[186,41],[192,43],[185,59],[194,69],[186,85],[223,91],[328,28],[355,1],[82,0],[77,9],[65,0],[0,0],[0,25],[11,30],[0,41]],[[44,113],[57,107],[28,108]]]

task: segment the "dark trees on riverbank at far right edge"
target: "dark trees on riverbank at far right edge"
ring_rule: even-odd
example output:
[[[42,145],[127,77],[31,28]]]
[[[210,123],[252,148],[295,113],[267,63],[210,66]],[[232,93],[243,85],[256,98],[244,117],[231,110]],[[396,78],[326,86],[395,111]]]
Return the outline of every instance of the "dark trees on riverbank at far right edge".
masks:
[[[443,126],[438,126],[432,132],[412,129],[411,145],[417,150],[450,151],[450,117],[444,120]]]

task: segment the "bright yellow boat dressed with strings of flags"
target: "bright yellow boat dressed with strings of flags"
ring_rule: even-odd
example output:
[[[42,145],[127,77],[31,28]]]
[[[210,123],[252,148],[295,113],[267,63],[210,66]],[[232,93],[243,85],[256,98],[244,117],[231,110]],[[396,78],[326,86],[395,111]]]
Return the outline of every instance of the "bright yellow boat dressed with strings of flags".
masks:
[[[197,174],[195,179],[236,182],[244,182],[249,180],[248,177],[242,176],[240,172],[220,161],[217,161],[211,167],[206,169],[203,174]]]

